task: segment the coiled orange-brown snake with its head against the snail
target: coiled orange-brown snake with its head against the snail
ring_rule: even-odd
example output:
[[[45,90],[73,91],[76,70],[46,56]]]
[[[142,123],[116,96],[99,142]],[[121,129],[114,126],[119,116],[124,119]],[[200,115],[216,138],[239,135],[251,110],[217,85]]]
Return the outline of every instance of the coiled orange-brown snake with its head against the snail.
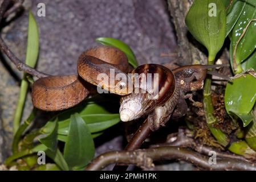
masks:
[[[87,82],[98,85],[100,81],[97,80],[97,75],[105,73],[110,77],[110,69],[115,70],[115,75],[127,73],[128,60],[124,52],[117,48],[99,46],[82,53],[78,58],[77,67],[78,75],[48,76],[36,80],[32,84],[33,105],[46,111],[64,110],[75,106],[88,96]],[[128,94],[128,89],[120,88],[118,80],[114,82],[114,86],[104,84],[103,88],[119,95]]]

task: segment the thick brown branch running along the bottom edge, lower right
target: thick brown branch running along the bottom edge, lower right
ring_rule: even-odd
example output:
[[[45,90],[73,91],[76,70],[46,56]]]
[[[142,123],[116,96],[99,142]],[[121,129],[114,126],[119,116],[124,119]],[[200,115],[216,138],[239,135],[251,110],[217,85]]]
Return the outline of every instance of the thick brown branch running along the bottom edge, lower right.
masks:
[[[208,170],[251,170],[255,164],[238,159],[218,159],[216,164],[209,163],[209,157],[186,148],[165,146],[136,151],[107,152],[97,156],[86,167],[86,170],[100,170],[112,163],[135,164],[143,168],[154,166],[153,161],[178,159],[193,163],[197,167]]]

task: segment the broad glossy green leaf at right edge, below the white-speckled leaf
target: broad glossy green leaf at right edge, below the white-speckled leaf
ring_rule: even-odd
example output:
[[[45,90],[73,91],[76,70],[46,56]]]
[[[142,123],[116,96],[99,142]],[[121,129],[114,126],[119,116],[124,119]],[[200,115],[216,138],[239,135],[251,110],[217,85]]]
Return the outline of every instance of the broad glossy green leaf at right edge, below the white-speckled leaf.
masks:
[[[251,122],[250,111],[256,101],[256,78],[246,74],[229,82],[225,90],[227,113],[235,114],[243,121],[243,126]]]

